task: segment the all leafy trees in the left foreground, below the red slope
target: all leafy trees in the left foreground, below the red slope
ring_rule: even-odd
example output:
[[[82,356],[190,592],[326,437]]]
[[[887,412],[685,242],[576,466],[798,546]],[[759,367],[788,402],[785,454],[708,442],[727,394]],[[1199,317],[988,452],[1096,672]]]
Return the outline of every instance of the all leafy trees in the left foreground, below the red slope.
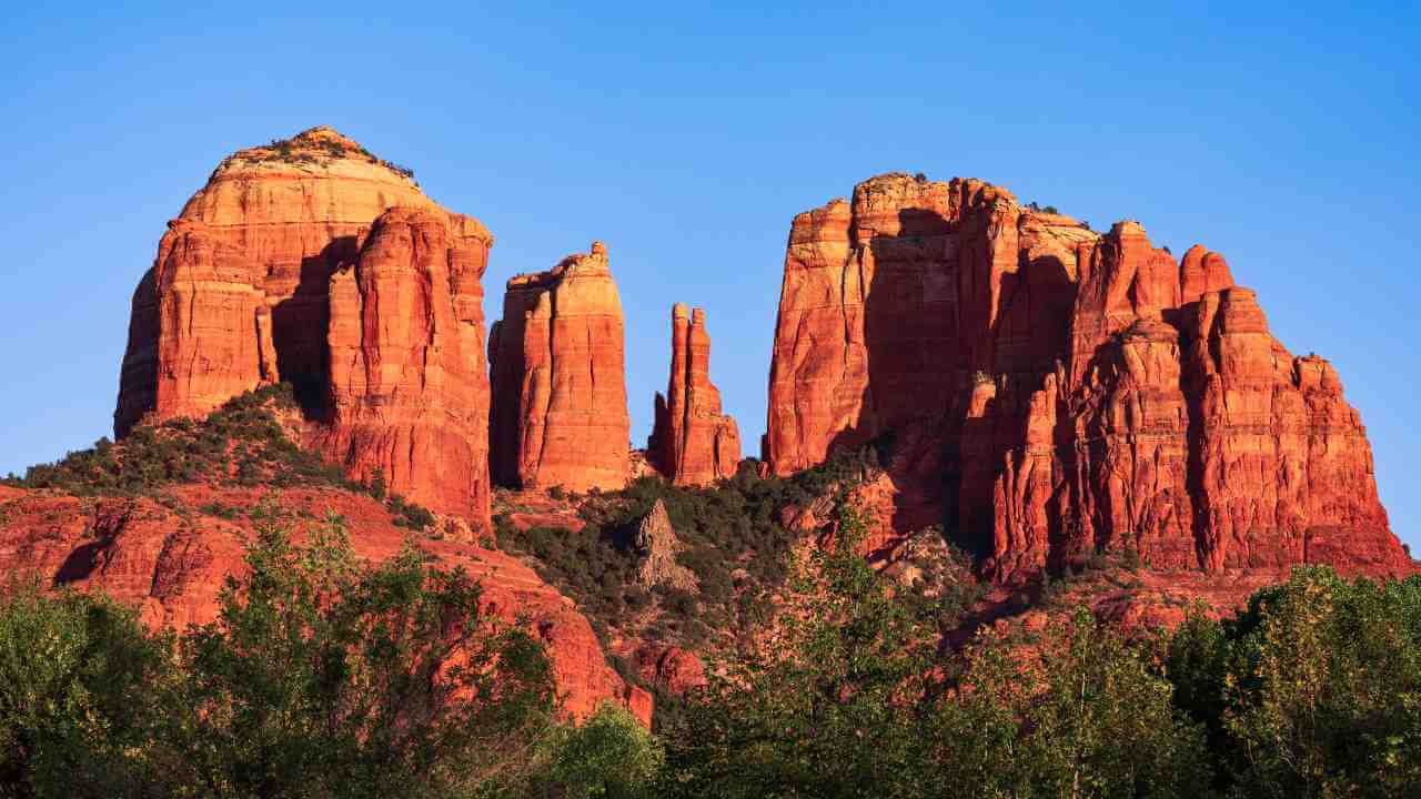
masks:
[[[618,778],[598,769],[647,744],[556,722],[541,641],[416,550],[358,563],[331,518],[300,547],[259,526],[246,566],[182,636],[102,597],[11,587],[0,795],[524,796],[534,778],[560,792],[560,768],[601,796]]]

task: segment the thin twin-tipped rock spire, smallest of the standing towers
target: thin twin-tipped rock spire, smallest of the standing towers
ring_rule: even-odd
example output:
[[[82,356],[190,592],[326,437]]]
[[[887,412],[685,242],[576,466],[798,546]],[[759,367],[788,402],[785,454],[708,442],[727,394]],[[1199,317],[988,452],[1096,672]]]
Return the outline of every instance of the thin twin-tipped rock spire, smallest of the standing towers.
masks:
[[[740,463],[740,431],[710,382],[706,314],[682,303],[671,309],[671,378],[657,394],[647,458],[675,485],[713,483]]]

